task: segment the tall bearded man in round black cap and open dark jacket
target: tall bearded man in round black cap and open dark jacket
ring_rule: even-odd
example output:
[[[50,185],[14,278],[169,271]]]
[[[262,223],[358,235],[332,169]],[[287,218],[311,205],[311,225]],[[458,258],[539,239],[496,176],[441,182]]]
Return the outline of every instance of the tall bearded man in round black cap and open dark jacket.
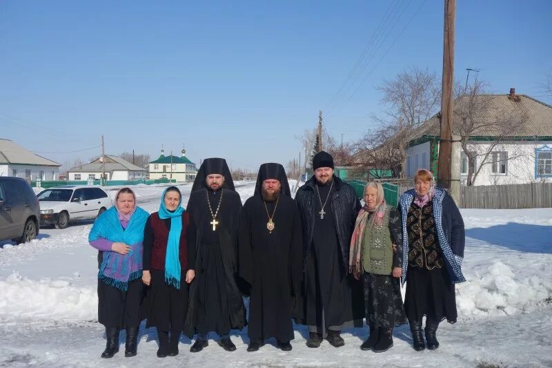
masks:
[[[333,158],[321,151],[313,157],[314,175],[295,195],[303,225],[302,303],[297,322],[308,325],[308,347],[323,338],[334,347],[345,344],[347,327],[362,327],[362,287],[348,273],[349,244],[360,202],[353,187],[333,175]]]

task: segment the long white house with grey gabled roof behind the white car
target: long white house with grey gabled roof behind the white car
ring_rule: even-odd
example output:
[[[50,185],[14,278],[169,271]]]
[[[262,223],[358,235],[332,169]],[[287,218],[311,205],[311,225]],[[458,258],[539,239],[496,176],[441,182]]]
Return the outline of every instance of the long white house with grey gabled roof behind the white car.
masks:
[[[67,172],[68,180],[100,180],[101,173],[106,173],[106,180],[135,180],[146,177],[146,169],[130,164],[119,156],[104,155],[89,164],[74,167]]]

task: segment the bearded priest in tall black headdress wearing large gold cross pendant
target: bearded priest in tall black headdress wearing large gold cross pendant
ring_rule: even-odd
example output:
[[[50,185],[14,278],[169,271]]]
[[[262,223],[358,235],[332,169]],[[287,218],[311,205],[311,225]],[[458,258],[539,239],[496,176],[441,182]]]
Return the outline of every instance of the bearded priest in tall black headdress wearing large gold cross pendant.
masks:
[[[195,280],[190,285],[184,333],[190,338],[197,333],[190,351],[206,347],[210,331],[218,334],[221,347],[234,351],[230,329],[243,329],[246,324],[244,300],[235,276],[242,201],[234,190],[226,160],[204,160],[186,210],[190,214],[188,264],[195,271]]]

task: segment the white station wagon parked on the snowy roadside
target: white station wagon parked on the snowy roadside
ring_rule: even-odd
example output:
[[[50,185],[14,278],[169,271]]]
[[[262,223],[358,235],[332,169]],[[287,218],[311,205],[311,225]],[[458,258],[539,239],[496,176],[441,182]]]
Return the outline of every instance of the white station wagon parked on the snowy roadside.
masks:
[[[41,191],[40,224],[65,229],[69,222],[96,218],[110,208],[111,198],[99,186],[57,186]]]

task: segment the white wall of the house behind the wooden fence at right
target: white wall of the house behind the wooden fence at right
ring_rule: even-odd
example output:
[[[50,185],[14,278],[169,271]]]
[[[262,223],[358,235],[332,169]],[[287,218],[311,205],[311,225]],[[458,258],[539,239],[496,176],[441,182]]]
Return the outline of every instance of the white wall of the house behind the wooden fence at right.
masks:
[[[481,171],[475,177],[473,185],[500,185],[500,184],[524,184],[532,182],[552,182],[552,178],[535,177],[535,148],[541,148],[545,144],[552,146],[552,142],[506,142],[497,145],[493,151],[508,152],[506,174],[492,173],[491,155],[483,162],[484,157],[478,156],[477,168]],[[469,144],[471,151],[484,155],[489,151],[490,144],[473,142]],[[461,174],[460,180],[465,184],[467,175]]]

